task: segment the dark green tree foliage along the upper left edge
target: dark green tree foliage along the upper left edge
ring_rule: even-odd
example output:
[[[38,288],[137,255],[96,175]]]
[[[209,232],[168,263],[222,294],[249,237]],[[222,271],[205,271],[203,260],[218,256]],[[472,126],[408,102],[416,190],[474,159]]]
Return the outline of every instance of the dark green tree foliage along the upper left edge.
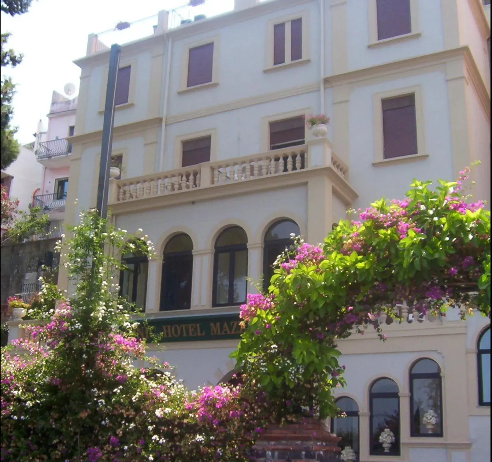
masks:
[[[15,16],[26,13],[32,0],[1,0],[0,11]],[[15,84],[10,77],[3,75],[4,67],[15,67],[22,61],[22,54],[15,54],[7,49],[9,33],[2,33],[0,38],[0,168],[7,168],[19,155],[19,143],[15,139],[16,127],[10,126],[13,115],[12,99],[15,94]]]

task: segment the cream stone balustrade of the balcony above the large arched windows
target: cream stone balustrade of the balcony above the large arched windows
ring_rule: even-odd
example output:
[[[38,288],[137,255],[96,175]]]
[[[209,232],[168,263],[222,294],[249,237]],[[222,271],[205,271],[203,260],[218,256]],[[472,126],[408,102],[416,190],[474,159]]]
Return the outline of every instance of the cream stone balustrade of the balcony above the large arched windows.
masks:
[[[311,158],[312,157],[312,158]],[[314,168],[328,167],[348,189],[348,167],[319,140],[261,154],[191,165],[167,172],[117,180],[110,191],[110,204],[168,196],[186,191],[249,181],[268,181]],[[355,193],[355,191],[354,191]]]

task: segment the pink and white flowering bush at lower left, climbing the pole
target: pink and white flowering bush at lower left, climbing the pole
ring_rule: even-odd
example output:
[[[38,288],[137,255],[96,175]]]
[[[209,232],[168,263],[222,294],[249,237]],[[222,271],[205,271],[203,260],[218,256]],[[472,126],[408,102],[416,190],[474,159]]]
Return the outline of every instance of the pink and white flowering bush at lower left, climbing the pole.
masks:
[[[64,256],[74,297],[44,284],[28,312],[44,323],[1,350],[1,460],[245,460],[261,402],[239,386],[188,392],[156,359],[133,365],[145,341],[112,284],[122,252],[150,254],[150,241],[94,213],[73,231]]]

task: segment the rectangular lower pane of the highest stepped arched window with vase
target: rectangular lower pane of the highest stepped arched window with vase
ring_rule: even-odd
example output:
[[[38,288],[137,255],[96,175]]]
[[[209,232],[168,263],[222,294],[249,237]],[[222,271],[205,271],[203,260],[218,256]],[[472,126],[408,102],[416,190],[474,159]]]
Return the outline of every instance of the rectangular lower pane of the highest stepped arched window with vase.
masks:
[[[441,433],[441,380],[440,379],[413,379],[413,423],[417,434]],[[425,422],[426,413],[433,411],[437,422]],[[430,415],[429,415],[430,417]]]

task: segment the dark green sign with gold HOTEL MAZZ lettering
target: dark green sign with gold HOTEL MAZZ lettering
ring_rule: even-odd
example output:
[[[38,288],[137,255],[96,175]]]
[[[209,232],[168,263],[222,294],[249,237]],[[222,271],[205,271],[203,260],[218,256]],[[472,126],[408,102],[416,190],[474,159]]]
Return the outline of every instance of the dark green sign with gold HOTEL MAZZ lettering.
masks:
[[[243,332],[239,323],[239,314],[149,318],[148,326],[142,325],[138,331],[141,337],[150,340],[149,327],[153,327],[152,333],[161,334],[164,343],[239,339]]]

